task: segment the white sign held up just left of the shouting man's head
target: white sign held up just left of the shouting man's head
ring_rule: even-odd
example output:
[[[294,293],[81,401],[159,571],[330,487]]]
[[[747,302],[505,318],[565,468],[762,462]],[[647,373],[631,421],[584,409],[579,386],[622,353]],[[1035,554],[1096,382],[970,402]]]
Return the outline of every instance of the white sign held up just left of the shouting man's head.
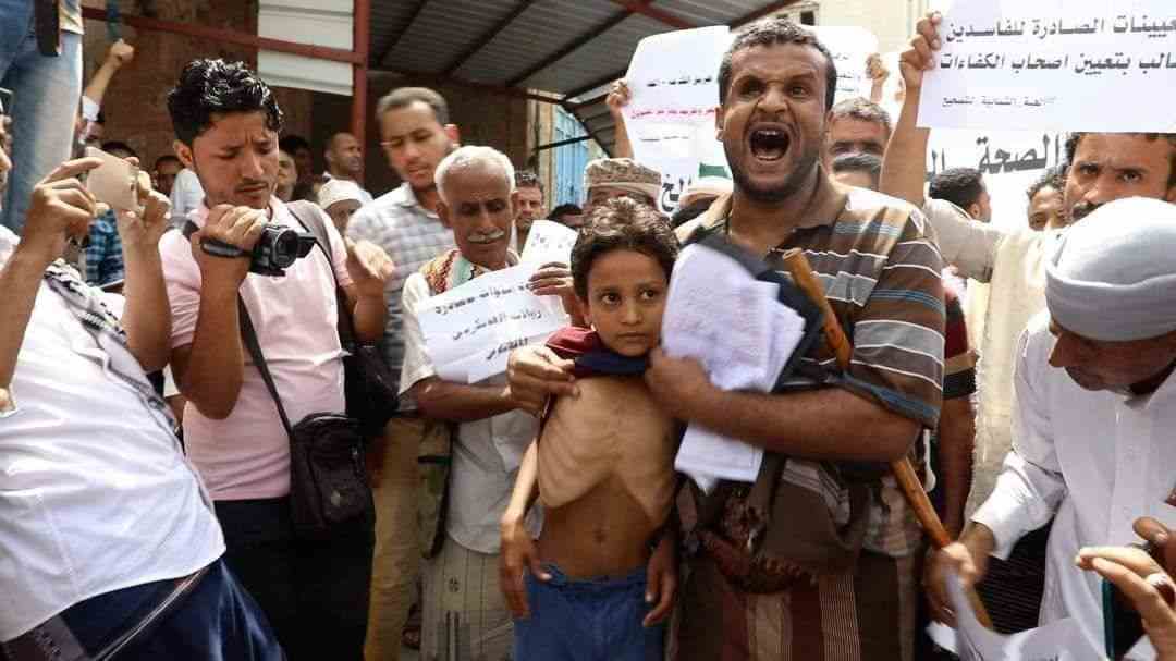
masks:
[[[633,53],[624,128],[634,159],[662,175],[662,212],[674,212],[700,175],[730,176],[715,139],[719,65],[730,40],[726,26],[703,27],[647,36]]]

